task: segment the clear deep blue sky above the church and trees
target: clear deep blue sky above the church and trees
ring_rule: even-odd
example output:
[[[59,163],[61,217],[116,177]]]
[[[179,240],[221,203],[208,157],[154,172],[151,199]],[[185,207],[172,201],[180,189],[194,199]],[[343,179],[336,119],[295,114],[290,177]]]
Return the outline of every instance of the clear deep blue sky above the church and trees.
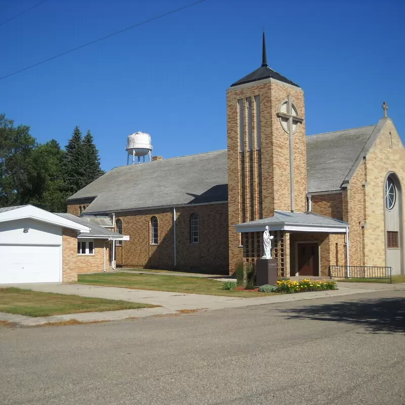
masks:
[[[0,0],[0,23],[39,0]],[[192,3],[47,0],[0,26],[0,76]],[[0,112],[39,142],[92,131],[102,168],[126,164],[127,136],[165,158],[226,148],[226,89],[261,64],[305,92],[307,134],[377,123],[405,139],[405,2],[206,0],[0,80]],[[288,5],[288,7],[286,7]]]

